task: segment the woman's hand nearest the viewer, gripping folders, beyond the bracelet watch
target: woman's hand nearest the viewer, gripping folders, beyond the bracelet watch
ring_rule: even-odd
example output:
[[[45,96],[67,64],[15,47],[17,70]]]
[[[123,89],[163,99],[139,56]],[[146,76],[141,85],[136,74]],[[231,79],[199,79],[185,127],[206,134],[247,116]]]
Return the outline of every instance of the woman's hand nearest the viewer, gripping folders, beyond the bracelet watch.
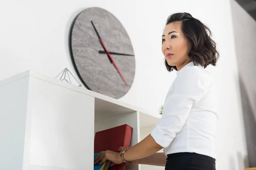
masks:
[[[122,147],[118,149],[121,150]],[[112,161],[111,166],[115,164],[121,164],[122,163],[122,158],[119,155],[119,152],[114,152],[112,150],[106,150],[100,152],[94,159],[94,164],[103,164],[106,160]],[[114,164],[113,164],[114,163]]]

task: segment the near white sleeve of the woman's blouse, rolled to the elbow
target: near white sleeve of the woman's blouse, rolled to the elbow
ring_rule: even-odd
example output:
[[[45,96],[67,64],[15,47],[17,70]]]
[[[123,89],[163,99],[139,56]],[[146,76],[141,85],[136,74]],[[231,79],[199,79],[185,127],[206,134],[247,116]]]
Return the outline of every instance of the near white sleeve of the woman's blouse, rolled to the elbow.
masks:
[[[172,89],[166,95],[162,117],[151,131],[155,142],[168,147],[186,122],[195,102],[198,102],[209,88],[208,75],[195,67],[187,67],[177,76]]]

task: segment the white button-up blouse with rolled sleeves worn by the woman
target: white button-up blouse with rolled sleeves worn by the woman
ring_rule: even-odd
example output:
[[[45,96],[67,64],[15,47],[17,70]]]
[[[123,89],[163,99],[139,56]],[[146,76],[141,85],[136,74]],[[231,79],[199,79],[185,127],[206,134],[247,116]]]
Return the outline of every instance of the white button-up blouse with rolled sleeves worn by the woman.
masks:
[[[151,136],[166,154],[194,152],[215,158],[218,113],[210,74],[193,62],[177,72]]]

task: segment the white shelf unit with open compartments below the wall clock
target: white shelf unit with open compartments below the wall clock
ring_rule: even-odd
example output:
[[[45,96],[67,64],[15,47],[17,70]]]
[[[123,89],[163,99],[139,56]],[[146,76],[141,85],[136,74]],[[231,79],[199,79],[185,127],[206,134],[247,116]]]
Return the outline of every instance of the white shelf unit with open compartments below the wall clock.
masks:
[[[95,132],[128,124],[133,146],[160,116],[35,71],[17,74],[0,81],[0,170],[93,170]]]

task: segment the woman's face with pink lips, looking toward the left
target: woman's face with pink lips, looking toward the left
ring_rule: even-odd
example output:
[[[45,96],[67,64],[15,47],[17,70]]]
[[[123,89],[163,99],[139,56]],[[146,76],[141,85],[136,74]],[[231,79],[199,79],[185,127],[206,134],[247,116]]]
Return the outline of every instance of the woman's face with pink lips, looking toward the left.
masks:
[[[179,71],[188,64],[190,45],[181,31],[180,22],[169,23],[162,36],[162,52],[168,65],[176,66]]]

